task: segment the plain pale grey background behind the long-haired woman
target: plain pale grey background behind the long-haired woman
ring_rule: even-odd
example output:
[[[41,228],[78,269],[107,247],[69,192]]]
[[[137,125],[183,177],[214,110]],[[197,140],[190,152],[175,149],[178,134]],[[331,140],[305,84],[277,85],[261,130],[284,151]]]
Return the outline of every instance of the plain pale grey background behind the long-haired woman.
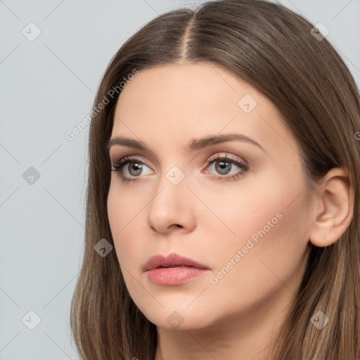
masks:
[[[0,360],[76,359],[69,311],[84,241],[89,127],[72,141],[65,134],[89,114],[125,39],[160,13],[201,2],[0,1]],[[359,84],[360,1],[280,2],[328,27]],[[41,319],[33,330],[30,310]]]

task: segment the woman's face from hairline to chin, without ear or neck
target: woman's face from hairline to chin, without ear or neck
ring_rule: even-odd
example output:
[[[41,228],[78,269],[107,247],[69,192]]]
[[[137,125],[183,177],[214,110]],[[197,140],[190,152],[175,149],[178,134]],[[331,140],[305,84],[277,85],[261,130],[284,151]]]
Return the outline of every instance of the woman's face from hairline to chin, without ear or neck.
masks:
[[[243,316],[252,326],[293,302],[311,204],[300,151],[267,98],[212,63],[141,70],[111,139],[113,166],[128,162],[111,175],[110,228],[151,322],[195,329]],[[198,267],[155,259],[147,270],[170,254]]]

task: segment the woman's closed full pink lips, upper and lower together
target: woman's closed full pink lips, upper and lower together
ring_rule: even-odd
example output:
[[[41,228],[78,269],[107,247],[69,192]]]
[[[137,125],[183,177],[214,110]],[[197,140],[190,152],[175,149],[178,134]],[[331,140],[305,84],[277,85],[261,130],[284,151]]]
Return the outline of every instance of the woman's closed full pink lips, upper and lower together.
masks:
[[[155,255],[143,266],[148,279],[158,285],[180,285],[198,278],[210,271],[210,268],[188,257],[172,252],[164,257]]]

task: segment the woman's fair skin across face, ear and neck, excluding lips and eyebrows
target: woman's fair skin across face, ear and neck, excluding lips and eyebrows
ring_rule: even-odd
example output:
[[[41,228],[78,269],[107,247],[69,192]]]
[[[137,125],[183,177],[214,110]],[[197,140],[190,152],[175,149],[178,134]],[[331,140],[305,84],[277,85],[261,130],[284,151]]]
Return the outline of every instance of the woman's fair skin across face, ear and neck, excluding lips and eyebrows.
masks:
[[[250,113],[238,105],[245,94],[257,102]],[[249,136],[264,150],[244,141],[185,148],[191,139],[232,133]],[[351,220],[347,174],[330,170],[316,184],[318,193],[310,193],[300,150],[274,105],[211,63],[141,70],[117,103],[115,136],[152,150],[110,148],[113,164],[134,156],[144,165],[141,174],[122,169],[135,182],[112,172],[108,218],[129,294],[158,328],[155,359],[272,359],[271,344],[296,298],[311,243],[330,245]],[[217,155],[245,160],[249,169],[226,180],[241,169],[231,164],[226,174],[221,160],[207,165]],[[166,176],[174,166],[185,176],[177,185]],[[236,262],[238,250],[267,230],[276,214],[281,219]],[[142,266],[171,252],[210,271],[182,285],[151,283]],[[232,268],[211,283],[231,259]],[[178,328],[167,321],[174,311],[182,321]]]

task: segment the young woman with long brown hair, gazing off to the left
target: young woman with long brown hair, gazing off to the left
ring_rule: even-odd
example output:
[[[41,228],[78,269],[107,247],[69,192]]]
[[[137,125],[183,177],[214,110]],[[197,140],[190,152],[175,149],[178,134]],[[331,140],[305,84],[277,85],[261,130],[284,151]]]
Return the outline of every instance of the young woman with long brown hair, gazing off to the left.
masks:
[[[82,359],[359,356],[359,90],[313,27],[210,1],[111,60],[72,301]]]

